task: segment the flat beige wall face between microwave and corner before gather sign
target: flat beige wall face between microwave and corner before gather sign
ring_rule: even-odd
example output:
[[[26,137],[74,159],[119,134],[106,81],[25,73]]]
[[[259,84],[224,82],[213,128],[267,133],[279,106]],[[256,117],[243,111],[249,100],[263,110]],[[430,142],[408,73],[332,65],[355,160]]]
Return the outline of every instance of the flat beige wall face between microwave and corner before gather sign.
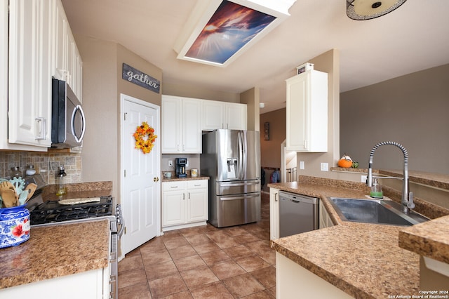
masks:
[[[83,140],[83,182],[111,180],[117,197],[118,113],[116,105],[116,44],[75,36],[83,60],[83,109],[86,134]]]

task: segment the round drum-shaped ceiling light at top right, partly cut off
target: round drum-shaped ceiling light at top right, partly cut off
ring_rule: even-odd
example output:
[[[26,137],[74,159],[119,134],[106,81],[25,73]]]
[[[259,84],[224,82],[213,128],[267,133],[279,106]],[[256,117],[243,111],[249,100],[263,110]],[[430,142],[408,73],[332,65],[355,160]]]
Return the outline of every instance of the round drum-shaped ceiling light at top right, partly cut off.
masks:
[[[346,0],[346,14],[353,20],[370,20],[391,13],[407,0]]]

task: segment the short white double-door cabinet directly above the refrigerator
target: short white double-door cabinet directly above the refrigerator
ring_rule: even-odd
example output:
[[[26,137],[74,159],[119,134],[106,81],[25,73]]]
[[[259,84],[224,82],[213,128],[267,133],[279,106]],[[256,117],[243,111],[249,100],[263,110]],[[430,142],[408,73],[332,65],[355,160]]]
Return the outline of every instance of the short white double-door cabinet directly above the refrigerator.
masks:
[[[213,131],[218,128],[246,130],[246,104],[203,100],[203,131]]]

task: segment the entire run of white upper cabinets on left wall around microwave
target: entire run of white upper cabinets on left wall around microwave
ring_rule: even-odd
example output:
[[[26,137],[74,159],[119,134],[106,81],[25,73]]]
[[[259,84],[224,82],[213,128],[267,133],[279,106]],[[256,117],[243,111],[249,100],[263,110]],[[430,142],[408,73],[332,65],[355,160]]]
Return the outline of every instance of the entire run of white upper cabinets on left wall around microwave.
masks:
[[[0,150],[46,152],[51,77],[81,100],[81,57],[60,0],[1,1],[0,14]]]

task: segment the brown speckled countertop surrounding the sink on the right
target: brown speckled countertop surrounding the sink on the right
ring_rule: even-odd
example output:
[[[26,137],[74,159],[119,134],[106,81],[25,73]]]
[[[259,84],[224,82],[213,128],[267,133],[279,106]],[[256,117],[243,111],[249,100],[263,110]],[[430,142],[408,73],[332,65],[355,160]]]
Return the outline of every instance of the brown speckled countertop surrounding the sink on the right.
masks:
[[[342,221],[330,205],[328,197],[365,198],[369,189],[364,184],[308,177],[268,187],[321,198],[335,224],[276,239],[277,252],[355,298],[419,295],[420,255],[398,246],[405,227]],[[439,227],[431,236],[436,234]]]

